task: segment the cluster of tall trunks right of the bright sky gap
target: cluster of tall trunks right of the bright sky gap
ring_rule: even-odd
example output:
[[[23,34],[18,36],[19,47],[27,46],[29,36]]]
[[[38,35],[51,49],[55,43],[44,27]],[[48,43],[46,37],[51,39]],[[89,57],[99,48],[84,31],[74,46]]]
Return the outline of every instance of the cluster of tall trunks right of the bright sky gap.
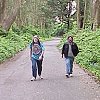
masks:
[[[100,0],[77,0],[78,28],[90,24],[92,30],[100,27]]]

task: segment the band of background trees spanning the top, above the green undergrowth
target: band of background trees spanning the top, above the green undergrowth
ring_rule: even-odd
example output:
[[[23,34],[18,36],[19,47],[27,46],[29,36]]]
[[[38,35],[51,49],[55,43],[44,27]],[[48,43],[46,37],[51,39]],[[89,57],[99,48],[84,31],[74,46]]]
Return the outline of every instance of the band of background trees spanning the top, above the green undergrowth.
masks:
[[[72,17],[79,29],[91,26],[96,30],[100,27],[100,0],[0,0],[0,26],[5,30],[14,22],[18,27],[34,25],[43,29],[48,21],[58,21],[69,28]]]

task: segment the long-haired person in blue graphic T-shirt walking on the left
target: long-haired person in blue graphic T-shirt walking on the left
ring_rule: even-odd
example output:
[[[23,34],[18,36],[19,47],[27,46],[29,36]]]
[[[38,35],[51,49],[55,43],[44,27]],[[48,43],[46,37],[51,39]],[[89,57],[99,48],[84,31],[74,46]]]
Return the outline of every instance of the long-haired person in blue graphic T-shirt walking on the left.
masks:
[[[44,46],[40,42],[39,37],[37,35],[33,36],[33,42],[30,44],[30,59],[32,61],[32,79],[31,81],[36,81],[37,70],[39,79],[43,79],[41,77],[42,72],[42,61],[44,55]]]

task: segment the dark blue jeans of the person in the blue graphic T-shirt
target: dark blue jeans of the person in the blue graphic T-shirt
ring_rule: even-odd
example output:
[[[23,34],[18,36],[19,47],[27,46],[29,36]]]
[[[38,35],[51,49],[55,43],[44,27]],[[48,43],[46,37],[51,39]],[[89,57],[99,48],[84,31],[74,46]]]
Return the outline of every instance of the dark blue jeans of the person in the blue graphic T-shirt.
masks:
[[[33,77],[37,77],[37,68],[38,68],[38,75],[41,76],[42,72],[42,60],[36,60],[32,58],[32,75]]]

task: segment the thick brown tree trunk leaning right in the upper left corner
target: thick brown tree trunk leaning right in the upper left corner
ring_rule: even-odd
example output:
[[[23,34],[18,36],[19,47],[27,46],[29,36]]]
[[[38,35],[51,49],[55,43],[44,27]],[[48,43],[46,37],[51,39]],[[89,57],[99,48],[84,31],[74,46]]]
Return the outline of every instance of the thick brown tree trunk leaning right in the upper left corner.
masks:
[[[5,7],[5,16],[3,16],[2,22],[1,22],[1,26],[4,30],[9,30],[11,25],[13,24],[13,22],[16,19],[16,16],[19,12],[20,9],[20,3],[21,0],[15,0],[15,2],[11,2],[12,0],[10,0],[10,3],[14,4],[13,7],[11,5],[10,10],[9,9],[9,2],[5,2],[6,3],[6,7]]]

